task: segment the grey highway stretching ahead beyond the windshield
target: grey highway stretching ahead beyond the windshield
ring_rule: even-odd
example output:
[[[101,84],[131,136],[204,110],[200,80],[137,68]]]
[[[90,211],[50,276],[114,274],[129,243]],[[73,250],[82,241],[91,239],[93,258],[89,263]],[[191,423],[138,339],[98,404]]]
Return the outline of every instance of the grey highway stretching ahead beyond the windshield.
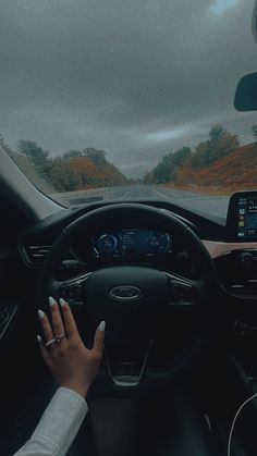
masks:
[[[64,206],[78,206],[100,200],[155,199],[174,202],[188,210],[227,217],[228,196],[206,196],[176,188],[152,185],[134,185],[124,187],[105,187],[52,195],[52,198]]]

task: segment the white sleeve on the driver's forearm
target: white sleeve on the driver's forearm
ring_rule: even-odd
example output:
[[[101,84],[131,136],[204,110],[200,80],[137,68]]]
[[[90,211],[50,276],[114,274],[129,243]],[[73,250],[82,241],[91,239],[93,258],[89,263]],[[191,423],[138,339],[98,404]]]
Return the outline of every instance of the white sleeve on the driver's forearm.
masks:
[[[59,387],[30,439],[14,456],[64,456],[87,410],[84,397]]]

